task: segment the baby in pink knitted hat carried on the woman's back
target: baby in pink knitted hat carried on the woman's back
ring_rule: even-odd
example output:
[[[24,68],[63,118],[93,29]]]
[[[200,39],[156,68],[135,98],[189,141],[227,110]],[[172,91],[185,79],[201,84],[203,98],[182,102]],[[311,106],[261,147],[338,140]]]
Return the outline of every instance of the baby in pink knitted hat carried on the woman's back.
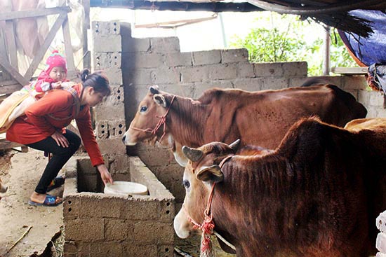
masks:
[[[52,54],[47,58],[46,69],[41,71],[36,81],[32,81],[20,90],[20,95],[24,99],[13,109],[8,117],[8,123],[12,123],[15,118],[22,116],[25,109],[33,104],[36,99],[43,97],[49,90],[70,87],[74,83],[67,80],[67,63],[65,57],[58,53],[58,50],[53,50]],[[14,92],[13,94],[15,94]],[[28,95],[28,96],[27,96]]]

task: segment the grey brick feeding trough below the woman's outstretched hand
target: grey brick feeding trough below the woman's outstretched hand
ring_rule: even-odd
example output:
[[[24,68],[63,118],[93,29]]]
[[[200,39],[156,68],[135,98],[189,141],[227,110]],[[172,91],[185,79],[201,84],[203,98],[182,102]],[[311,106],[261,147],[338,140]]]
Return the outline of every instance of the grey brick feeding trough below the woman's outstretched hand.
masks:
[[[144,184],[149,195],[95,193],[91,182],[81,188],[81,178],[95,174],[88,158],[72,158],[65,169],[64,256],[173,256],[174,197],[138,157],[126,156],[126,180]]]

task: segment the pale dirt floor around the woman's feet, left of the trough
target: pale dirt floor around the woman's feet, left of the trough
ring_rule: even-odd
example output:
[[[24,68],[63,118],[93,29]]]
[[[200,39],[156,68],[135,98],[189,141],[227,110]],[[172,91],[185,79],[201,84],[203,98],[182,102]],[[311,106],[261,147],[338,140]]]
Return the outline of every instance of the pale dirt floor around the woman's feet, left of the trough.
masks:
[[[27,153],[0,152],[0,178],[8,186],[8,191],[0,195],[0,257],[41,256],[60,233],[62,205],[27,204],[47,161],[43,152],[31,148]],[[62,188],[50,193],[61,196]]]

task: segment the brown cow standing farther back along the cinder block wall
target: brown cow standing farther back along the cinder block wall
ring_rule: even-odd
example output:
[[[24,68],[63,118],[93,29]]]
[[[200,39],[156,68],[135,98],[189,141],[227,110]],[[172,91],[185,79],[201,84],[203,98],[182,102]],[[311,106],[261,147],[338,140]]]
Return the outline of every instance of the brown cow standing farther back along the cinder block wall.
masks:
[[[185,166],[182,145],[198,147],[211,141],[229,144],[241,139],[243,146],[275,148],[300,118],[319,116],[326,123],[343,127],[366,113],[352,95],[335,85],[258,92],[214,88],[198,100],[151,87],[123,140],[127,146],[161,141]]]

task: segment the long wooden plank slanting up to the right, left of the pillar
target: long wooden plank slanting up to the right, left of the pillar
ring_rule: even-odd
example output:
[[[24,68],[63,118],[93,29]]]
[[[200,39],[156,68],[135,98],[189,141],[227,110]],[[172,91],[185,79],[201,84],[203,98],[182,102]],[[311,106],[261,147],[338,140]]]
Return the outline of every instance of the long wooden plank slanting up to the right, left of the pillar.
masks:
[[[44,40],[44,43],[41,45],[39,50],[37,51],[34,60],[32,60],[32,63],[29,65],[27,71],[25,72],[25,78],[29,81],[32,76],[34,75],[34,72],[36,71],[36,68],[39,66],[39,63],[44,57],[44,54],[46,53],[48,47],[51,45],[51,42],[55,38],[56,33],[58,32],[58,29],[62,25],[62,23],[65,21],[65,18],[67,18],[67,13],[60,13],[58,19],[55,21],[53,26],[51,27],[50,32],[48,32],[48,35],[46,39]]]

